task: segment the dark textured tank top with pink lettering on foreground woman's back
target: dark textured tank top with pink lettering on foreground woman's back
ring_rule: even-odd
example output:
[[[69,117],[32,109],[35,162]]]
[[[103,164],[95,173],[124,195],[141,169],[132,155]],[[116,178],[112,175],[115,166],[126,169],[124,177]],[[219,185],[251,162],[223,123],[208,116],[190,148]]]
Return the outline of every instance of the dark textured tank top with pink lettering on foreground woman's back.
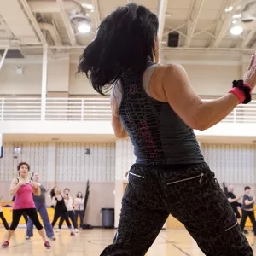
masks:
[[[195,164],[204,161],[194,131],[169,103],[148,96],[143,73],[127,72],[120,82],[119,118],[129,133],[137,163]]]

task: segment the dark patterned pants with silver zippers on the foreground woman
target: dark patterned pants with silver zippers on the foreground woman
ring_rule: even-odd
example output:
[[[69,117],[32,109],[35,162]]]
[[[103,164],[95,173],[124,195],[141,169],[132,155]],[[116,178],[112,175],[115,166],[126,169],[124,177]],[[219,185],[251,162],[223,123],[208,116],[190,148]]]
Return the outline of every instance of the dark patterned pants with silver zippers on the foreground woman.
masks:
[[[207,256],[251,256],[236,216],[207,164],[133,165],[113,244],[101,256],[142,256],[172,214]]]

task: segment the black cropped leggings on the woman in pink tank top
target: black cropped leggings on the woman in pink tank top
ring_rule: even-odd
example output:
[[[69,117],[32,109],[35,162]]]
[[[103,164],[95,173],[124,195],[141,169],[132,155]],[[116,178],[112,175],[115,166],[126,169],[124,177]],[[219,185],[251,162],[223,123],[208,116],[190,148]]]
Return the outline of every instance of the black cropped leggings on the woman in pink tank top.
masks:
[[[20,218],[23,215],[23,212],[26,212],[28,217],[31,218],[32,223],[36,226],[37,230],[43,229],[43,226],[39,221],[36,208],[29,208],[29,209],[13,210],[13,220],[12,220],[12,224],[10,225],[9,230],[12,230],[12,231],[16,230],[16,228],[19,224]]]

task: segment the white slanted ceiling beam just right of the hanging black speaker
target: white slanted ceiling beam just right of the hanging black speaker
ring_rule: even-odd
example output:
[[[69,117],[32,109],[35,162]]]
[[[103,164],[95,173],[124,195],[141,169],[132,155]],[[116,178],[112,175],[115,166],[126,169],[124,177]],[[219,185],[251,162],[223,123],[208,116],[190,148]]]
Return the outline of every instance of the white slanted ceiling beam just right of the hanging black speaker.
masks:
[[[192,8],[192,10],[191,10],[191,13],[189,15],[187,38],[185,39],[184,47],[189,47],[189,45],[191,43],[191,40],[194,36],[195,28],[196,28],[197,22],[199,20],[199,17],[201,14],[201,9],[202,9],[204,2],[205,2],[205,0],[199,0],[198,6],[197,6],[197,4],[194,4],[194,8]],[[197,2],[195,1],[195,3],[197,3]],[[194,17],[192,17],[192,16],[194,16]]]

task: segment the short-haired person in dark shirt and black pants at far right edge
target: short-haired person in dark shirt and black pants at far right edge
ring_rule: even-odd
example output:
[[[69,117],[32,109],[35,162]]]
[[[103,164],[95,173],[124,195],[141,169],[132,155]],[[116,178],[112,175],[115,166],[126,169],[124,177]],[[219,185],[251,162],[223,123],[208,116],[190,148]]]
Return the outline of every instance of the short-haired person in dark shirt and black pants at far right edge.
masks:
[[[254,236],[256,236],[256,222],[255,222],[255,215],[254,215],[254,201],[256,199],[255,195],[250,195],[251,188],[246,186],[244,188],[245,195],[243,195],[242,199],[242,206],[241,206],[241,231],[244,230],[244,226],[247,221],[247,217],[250,218],[253,224],[253,232]]]

